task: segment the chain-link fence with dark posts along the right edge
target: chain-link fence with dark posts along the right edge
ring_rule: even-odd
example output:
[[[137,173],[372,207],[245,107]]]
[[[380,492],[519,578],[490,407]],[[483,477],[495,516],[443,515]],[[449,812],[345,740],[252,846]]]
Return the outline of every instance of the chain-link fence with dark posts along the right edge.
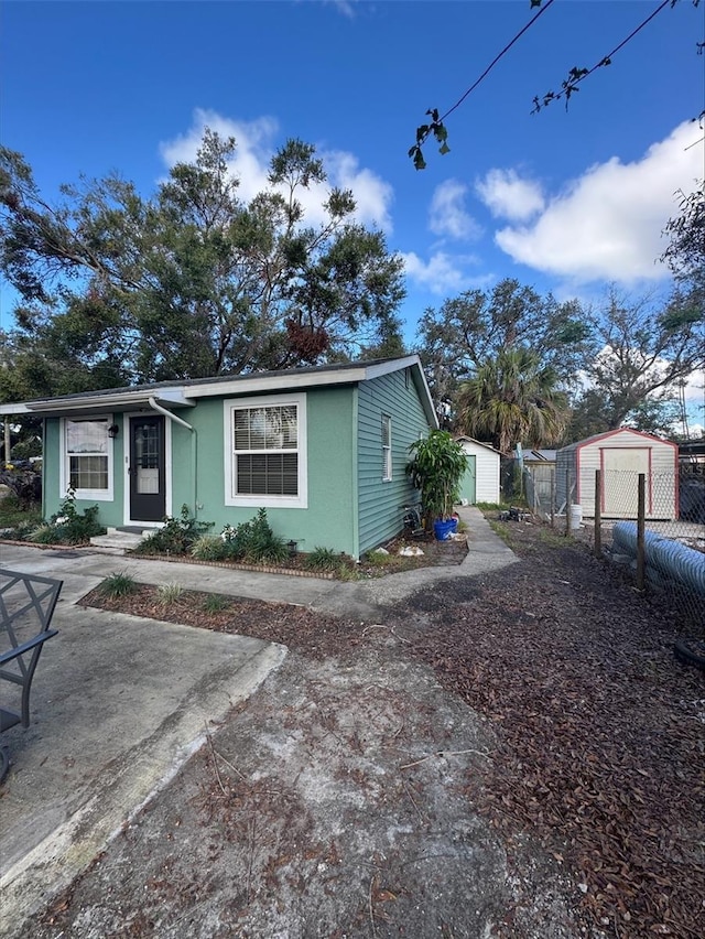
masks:
[[[705,633],[705,473],[525,470],[532,511],[586,540],[633,573],[638,590],[664,593],[688,626]],[[540,471],[540,472],[538,472]]]

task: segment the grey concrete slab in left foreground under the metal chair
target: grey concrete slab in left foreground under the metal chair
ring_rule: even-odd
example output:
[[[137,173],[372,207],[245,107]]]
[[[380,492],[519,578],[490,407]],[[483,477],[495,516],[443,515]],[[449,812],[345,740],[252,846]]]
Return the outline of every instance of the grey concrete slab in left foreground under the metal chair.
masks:
[[[12,760],[0,798],[3,937],[70,883],[285,655],[66,600],[53,625],[32,724],[2,740]]]

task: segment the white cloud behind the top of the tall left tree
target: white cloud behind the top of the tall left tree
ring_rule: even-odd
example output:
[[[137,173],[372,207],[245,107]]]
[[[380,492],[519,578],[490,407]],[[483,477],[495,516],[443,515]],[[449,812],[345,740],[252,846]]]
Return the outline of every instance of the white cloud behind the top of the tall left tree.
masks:
[[[166,165],[173,166],[177,162],[194,160],[207,127],[220,137],[235,137],[237,149],[229,165],[232,174],[240,181],[238,192],[242,199],[247,202],[257,193],[268,188],[269,162],[278,145],[284,142],[278,140],[280,127],[272,117],[261,117],[253,121],[236,121],[216,111],[198,108],[194,112],[193,125],[186,133],[161,144],[160,151]],[[352,191],[357,202],[355,220],[391,231],[392,186],[371,170],[361,168],[352,153],[318,150],[316,155],[323,160],[328,181],[325,184],[313,184],[308,190],[299,191],[299,201],[305,209],[305,223],[316,224],[324,220],[323,204],[330,188],[338,186]]]

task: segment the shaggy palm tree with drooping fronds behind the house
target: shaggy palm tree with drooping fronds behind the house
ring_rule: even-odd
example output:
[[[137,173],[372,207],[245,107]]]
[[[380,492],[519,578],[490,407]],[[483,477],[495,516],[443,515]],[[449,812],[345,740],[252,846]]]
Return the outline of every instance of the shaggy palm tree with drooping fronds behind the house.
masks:
[[[458,430],[491,440],[502,453],[517,442],[544,446],[557,441],[568,421],[557,376],[530,349],[503,349],[463,382],[458,395]]]

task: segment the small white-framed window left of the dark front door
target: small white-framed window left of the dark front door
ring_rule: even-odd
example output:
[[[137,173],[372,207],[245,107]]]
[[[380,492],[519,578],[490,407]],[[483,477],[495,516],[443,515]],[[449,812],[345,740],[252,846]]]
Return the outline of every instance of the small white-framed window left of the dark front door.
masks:
[[[108,418],[64,421],[62,488],[77,498],[112,498]]]

